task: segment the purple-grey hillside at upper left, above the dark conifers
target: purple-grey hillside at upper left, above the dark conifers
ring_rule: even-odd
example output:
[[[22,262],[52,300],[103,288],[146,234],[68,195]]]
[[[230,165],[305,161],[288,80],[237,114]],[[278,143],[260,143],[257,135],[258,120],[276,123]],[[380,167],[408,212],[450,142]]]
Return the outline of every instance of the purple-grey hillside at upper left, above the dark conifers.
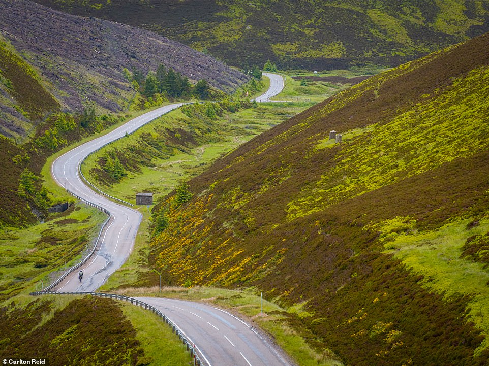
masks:
[[[150,31],[73,16],[25,0],[0,1],[0,126],[24,136],[56,110],[119,112],[133,90],[123,69],[143,75],[159,64],[190,80],[232,91],[246,77]]]

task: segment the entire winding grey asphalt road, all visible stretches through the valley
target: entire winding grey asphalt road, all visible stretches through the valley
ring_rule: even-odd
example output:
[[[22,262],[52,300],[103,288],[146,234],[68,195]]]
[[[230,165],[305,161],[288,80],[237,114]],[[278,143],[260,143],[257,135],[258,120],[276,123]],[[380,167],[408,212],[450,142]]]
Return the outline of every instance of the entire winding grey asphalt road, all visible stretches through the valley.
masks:
[[[280,85],[283,88],[281,76],[268,73],[265,75],[270,77],[271,85],[257,101],[266,101],[280,93]],[[51,174],[60,186],[107,209],[111,216],[97,255],[82,268],[83,281],[78,281],[75,271],[56,286],[56,291],[95,292],[128,258],[142,219],[138,211],[110,201],[85,184],[79,176],[83,159],[109,142],[124,137],[126,133],[131,134],[140,126],[184,104],[168,105],[134,118],[107,135],[80,145],[54,161]],[[156,297],[139,300],[155,306],[177,324],[196,344],[209,366],[291,365],[281,351],[273,348],[252,327],[223,310],[199,303]]]

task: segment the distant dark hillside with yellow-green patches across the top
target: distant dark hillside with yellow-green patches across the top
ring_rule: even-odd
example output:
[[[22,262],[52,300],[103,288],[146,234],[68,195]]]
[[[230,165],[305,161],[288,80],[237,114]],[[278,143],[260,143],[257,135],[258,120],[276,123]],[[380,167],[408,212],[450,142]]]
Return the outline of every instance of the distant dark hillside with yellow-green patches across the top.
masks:
[[[228,64],[399,65],[489,31],[487,0],[36,0],[150,29]]]

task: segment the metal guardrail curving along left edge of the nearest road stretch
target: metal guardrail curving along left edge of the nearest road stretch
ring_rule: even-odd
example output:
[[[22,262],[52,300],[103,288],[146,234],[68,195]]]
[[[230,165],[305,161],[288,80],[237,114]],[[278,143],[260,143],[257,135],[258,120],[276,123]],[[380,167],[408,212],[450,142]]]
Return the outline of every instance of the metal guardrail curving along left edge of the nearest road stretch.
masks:
[[[178,338],[182,341],[184,345],[187,346],[187,351],[190,352],[190,356],[192,357],[194,361],[194,366],[205,366],[207,365],[206,362],[203,362],[201,358],[199,357],[198,353],[202,355],[202,352],[197,348],[197,346],[192,342],[192,340],[182,331],[170,318],[168,318],[165,314],[163,314],[160,310],[155,308],[152,305],[146,304],[140,300],[137,300],[136,298],[129,297],[129,296],[124,296],[124,295],[117,295],[114,293],[101,293],[101,292],[83,292],[83,291],[55,291],[55,292],[45,292],[45,291],[36,291],[36,292],[31,292],[31,296],[39,296],[39,295],[92,295],[92,296],[98,296],[98,297],[105,297],[105,298],[112,298],[115,300],[122,300],[122,301],[128,301],[131,302],[131,304],[140,306],[141,308],[144,308],[145,310],[149,310],[156,315],[158,315],[164,322],[166,322],[169,326],[172,328],[172,332],[175,333]],[[203,356],[203,355],[202,355]],[[203,357],[205,359],[205,357]]]

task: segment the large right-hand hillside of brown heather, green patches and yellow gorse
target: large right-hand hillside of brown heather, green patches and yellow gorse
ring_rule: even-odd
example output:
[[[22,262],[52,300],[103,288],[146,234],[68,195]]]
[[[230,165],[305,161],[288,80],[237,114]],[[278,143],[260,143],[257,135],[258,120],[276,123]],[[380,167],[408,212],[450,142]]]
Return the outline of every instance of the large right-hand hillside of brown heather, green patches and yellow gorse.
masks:
[[[157,208],[162,281],[300,304],[348,365],[487,364],[488,47],[374,76],[218,160]]]

